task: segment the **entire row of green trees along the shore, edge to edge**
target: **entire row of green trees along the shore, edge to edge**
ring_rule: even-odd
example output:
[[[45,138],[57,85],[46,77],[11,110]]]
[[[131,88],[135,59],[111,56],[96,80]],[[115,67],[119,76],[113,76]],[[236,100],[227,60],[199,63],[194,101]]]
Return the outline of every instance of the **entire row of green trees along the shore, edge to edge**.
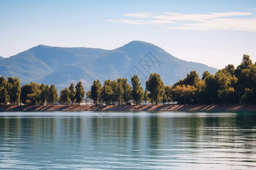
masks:
[[[82,83],[60,91],[51,86],[31,82],[20,87],[18,78],[11,76],[6,80],[0,77],[0,104],[54,105],[80,104],[84,101],[85,91]],[[243,55],[237,68],[228,65],[218,70],[215,75],[205,71],[200,79],[196,71],[191,71],[184,79],[172,86],[165,86],[159,74],[153,73],[146,81],[143,90],[139,77],[131,78],[131,85],[126,78],[105,80],[101,86],[100,80],[94,80],[86,97],[94,104],[151,104],[178,101],[179,104],[237,104],[256,103],[256,63],[250,56]]]

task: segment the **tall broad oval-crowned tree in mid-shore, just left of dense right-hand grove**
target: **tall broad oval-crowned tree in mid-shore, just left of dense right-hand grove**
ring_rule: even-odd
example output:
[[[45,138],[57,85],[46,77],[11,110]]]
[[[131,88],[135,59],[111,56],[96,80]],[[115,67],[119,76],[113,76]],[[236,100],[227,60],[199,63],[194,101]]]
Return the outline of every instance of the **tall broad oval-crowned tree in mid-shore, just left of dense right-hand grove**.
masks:
[[[152,73],[146,82],[146,89],[150,92],[151,103],[158,104],[164,94],[164,84],[159,74]]]

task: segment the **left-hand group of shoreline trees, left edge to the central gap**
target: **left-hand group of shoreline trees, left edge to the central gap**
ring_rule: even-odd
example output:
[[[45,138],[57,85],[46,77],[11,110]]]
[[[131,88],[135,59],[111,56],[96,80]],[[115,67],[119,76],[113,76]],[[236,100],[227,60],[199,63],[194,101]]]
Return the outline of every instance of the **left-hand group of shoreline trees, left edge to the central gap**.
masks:
[[[0,104],[8,103],[13,105],[54,105],[56,101],[62,104],[80,104],[85,96],[82,83],[73,83],[68,88],[61,90],[60,97],[54,84],[38,84],[31,82],[20,87],[20,80],[11,76],[6,80],[0,77]]]

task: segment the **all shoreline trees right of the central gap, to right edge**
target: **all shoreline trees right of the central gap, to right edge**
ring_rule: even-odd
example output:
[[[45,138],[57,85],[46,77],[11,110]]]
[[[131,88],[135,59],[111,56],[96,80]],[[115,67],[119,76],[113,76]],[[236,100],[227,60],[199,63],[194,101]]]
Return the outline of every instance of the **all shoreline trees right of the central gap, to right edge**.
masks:
[[[86,97],[94,104],[134,104],[150,101],[151,104],[178,101],[179,104],[238,104],[256,103],[256,63],[250,56],[243,55],[237,68],[228,65],[215,75],[205,71],[200,79],[196,71],[191,71],[173,86],[165,86],[159,74],[151,74],[143,91],[137,75],[127,79],[106,80],[101,87],[100,80],[94,80]]]

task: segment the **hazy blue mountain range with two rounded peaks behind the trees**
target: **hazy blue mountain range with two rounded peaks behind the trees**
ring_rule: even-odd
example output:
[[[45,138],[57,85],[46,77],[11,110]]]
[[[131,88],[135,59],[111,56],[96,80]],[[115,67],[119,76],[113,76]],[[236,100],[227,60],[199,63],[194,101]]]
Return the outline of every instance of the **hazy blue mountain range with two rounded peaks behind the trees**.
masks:
[[[81,81],[89,90],[93,80],[101,84],[106,79],[127,78],[138,74],[142,86],[150,73],[161,75],[164,84],[172,85],[184,79],[190,71],[200,76],[217,69],[187,62],[172,56],[162,48],[143,41],[131,41],[114,50],[96,48],[60,48],[38,45],[9,58],[0,58],[0,75],[18,77],[22,84],[37,82],[55,84],[60,91]]]

